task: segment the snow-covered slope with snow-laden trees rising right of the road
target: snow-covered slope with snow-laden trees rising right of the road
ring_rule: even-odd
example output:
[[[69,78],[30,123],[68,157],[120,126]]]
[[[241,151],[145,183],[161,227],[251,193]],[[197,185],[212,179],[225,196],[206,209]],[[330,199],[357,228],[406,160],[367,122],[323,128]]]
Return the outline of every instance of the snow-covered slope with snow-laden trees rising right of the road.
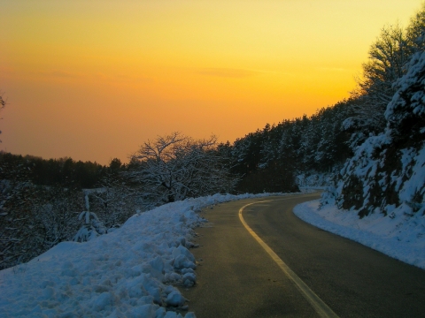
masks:
[[[425,52],[413,56],[388,104],[385,131],[369,136],[336,187],[298,216],[425,269]],[[330,222],[330,223],[329,223]]]

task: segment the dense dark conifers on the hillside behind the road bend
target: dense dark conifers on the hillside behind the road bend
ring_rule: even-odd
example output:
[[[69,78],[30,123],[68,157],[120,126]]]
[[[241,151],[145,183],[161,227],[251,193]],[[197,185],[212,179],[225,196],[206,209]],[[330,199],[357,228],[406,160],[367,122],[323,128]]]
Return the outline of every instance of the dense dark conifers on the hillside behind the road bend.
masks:
[[[350,111],[350,101],[338,102],[311,117],[266,125],[236,140],[230,154],[234,171],[242,175],[237,190],[291,191],[295,174],[339,170],[352,154],[346,144],[350,135],[342,128]]]

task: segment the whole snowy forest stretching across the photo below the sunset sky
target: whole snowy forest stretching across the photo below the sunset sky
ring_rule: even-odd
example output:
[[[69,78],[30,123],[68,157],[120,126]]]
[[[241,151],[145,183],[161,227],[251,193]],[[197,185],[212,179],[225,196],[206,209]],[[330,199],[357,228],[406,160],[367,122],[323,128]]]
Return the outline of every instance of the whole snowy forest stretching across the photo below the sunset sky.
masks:
[[[328,175],[323,204],[356,208],[359,217],[403,204],[425,213],[425,186],[413,182],[425,157],[424,46],[422,5],[407,27],[382,28],[347,99],[233,143],[170,133],[144,142],[129,163],[108,166],[0,153],[0,269],[58,242],[113,231],[158,205],[213,193],[298,192],[298,176],[315,173]]]

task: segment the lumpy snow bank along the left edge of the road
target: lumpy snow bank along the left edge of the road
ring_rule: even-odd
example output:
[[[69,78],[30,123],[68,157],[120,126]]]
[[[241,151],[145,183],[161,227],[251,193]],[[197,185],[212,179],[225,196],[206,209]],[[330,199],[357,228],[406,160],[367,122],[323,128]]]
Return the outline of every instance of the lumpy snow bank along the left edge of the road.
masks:
[[[192,229],[206,222],[197,212],[267,195],[216,194],[169,203],[89,242],[59,243],[0,271],[0,316],[182,317],[188,306],[174,286],[196,282],[196,260],[188,247]]]

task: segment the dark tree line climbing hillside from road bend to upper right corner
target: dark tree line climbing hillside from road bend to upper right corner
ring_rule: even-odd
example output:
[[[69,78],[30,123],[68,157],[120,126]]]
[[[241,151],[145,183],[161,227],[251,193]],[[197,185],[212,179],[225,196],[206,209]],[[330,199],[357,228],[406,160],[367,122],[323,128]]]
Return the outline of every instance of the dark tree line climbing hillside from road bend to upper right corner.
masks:
[[[341,180],[341,169],[364,142],[384,133],[391,125],[385,113],[387,106],[402,85],[399,79],[409,72],[413,59],[423,52],[424,32],[425,4],[422,4],[406,28],[398,24],[382,28],[369,48],[367,62],[362,64],[362,76],[349,98],[317,110],[310,117],[267,124],[232,145],[222,145],[234,163],[234,170],[244,176],[242,185],[256,191],[274,191],[276,185],[282,184],[278,176],[284,176],[290,188],[295,184],[296,175],[316,172],[330,173],[335,183]],[[420,77],[417,80],[415,85],[423,90]],[[409,117],[407,113],[404,116]],[[409,123],[418,126],[419,119],[414,118]],[[412,135],[409,130],[413,126],[405,125],[403,133]],[[423,131],[423,125],[419,127],[417,130]],[[423,140],[421,136],[423,133],[417,133],[414,138]],[[360,190],[351,187],[350,191],[355,197]],[[351,207],[352,201],[345,202],[344,208]]]

